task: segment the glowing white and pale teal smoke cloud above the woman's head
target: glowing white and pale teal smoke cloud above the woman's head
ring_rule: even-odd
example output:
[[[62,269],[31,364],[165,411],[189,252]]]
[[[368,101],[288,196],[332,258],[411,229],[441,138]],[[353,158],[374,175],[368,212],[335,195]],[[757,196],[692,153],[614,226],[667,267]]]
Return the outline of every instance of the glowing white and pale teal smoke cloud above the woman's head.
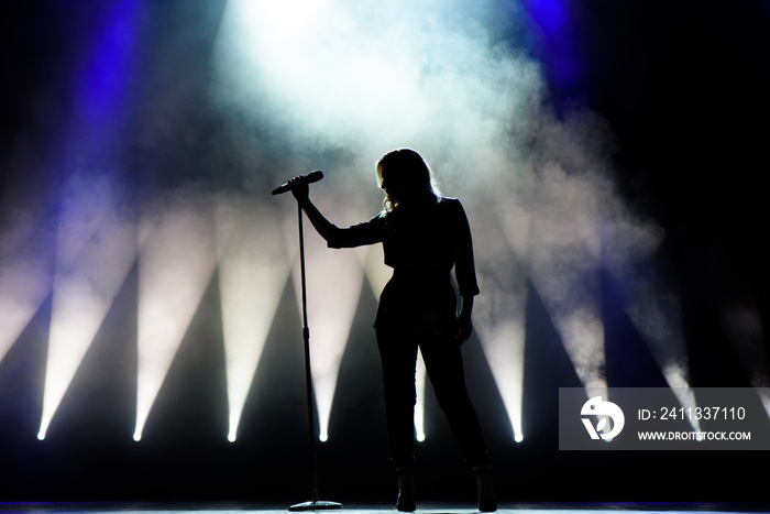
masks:
[[[369,163],[355,173],[400,145],[474,169],[474,181],[508,164],[503,139],[512,120],[527,122],[517,116],[543,81],[534,61],[490,47],[481,23],[449,21],[473,3],[288,2],[288,28],[276,3],[228,2],[213,52],[226,105],[310,153],[354,147]]]

